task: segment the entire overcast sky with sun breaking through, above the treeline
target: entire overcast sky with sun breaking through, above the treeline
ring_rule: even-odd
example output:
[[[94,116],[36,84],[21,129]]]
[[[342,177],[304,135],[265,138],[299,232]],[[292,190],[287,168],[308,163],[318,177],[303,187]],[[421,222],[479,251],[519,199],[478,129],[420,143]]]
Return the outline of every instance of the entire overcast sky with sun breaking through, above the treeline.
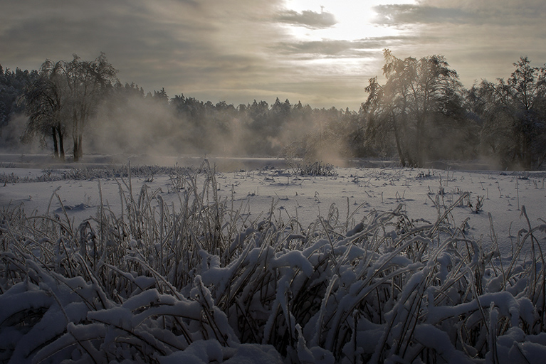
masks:
[[[466,87],[546,63],[544,0],[0,0],[0,64],[101,51],[122,82],[199,100],[357,110],[382,50],[445,55]]]

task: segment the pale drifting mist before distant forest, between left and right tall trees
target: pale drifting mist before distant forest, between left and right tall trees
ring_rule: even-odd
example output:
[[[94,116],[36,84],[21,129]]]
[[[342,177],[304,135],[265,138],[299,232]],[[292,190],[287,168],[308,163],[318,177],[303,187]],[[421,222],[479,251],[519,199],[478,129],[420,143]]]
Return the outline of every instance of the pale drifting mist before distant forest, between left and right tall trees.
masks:
[[[85,153],[162,163],[172,156],[274,157],[337,161],[352,154],[336,124],[356,113],[276,100],[247,105],[201,102],[159,92],[109,97],[88,125]]]

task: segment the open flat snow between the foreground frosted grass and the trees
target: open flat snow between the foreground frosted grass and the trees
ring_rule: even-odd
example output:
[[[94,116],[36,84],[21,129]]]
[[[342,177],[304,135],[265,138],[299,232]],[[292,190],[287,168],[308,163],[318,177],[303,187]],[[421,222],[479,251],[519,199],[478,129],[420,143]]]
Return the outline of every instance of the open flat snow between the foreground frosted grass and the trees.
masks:
[[[31,157],[27,158],[30,160]],[[43,158],[33,160],[43,161]],[[180,160],[172,161],[178,163]],[[185,165],[196,167],[201,161],[182,160]],[[233,202],[233,208],[242,208],[251,220],[268,212],[272,203],[283,219],[297,218],[303,228],[313,223],[317,216],[326,216],[332,205],[340,220],[350,217],[358,223],[372,210],[390,211],[403,204],[410,218],[432,222],[438,218],[438,207],[452,205],[468,192],[469,198],[463,199],[453,210],[455,222],[463,224],[468,219],[468,232],[484,244],[490,244],[490,213],[503,256],[511,255],[518,232],[528,228],[527,220],[522,216],[524,206],[532,226],[546,220],[545,172],[352,167],[335,168],[337,176],[325,177],[294,175],[293,169],[279,159],[221,159],[216,162],[223,170],[216,176],[220,196]],[[91,163],[83,164],[88,168],[107,165],[103,159],[92,159]],[[54,169],[50,165],[46,170],[4,167],[0,168],[0,175],[13,173],[21,178],[36,178],[44,173],[62,173],[70,166],[74,164],[63,164],[61,168],[53,165]],[[0,187],[0,206],[23,204],[27,213],[43,214],[52,201],[50,211],[60,213],[62,201],[68,216],[78,223],[95,215],[100,205],[99,184],[103,203],[113,211],[119,211],[119,183],[120,178],[6,183]],[[176,181],[169,176],[132,178],[135,194],[144,183],[150,191],[158,191],[166,202],[176,204],[179,200]],[[58,198],[51,200],[54,191],[61,201]],[[478,198],[483,198],[483,206],[476,213]]]

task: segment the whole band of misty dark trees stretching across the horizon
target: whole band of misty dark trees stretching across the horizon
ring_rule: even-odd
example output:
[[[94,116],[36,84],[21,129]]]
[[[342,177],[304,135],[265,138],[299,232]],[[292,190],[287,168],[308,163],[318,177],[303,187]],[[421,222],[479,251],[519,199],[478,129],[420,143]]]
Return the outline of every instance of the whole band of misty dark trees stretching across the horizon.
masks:
[[[467,90],[439,55],[400,59],[384,51],[358,111],[301,102],[203,102],[122,84],[101,54],[46,60],[37,71],[0,67],[1,130],[24,123],[21,141],[41,140],[64,158],[99,153],[222,154],[307,159],[387,158],[402,166],[486,157],[499,168],[540,168],[546,158],[546,66],[521,57],[507,80]],[[16,115],[24,113],[26,119]],[[13,133],[11,133],[13,134]],[[13,143],[4,137],[4,145]]]

